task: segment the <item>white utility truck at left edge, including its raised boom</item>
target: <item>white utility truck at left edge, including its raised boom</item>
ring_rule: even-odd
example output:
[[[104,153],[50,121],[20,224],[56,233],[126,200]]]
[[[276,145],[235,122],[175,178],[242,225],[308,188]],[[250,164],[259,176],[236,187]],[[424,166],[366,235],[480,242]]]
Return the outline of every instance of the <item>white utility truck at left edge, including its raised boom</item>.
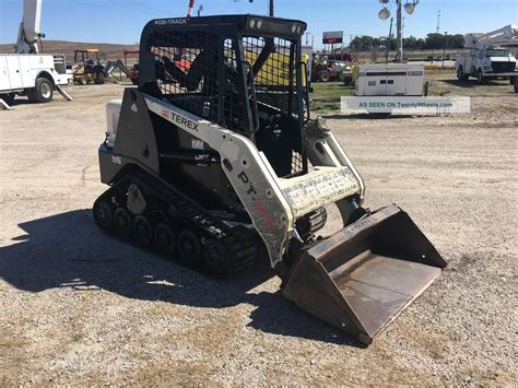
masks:
[[[38,54],[42,0],[24,0],[15,54],[0,55],[0,104],[10,108],[16,95],[32,103],[47,103],[54,91],[72,98],[60,87],[72,80],[67,72],[64,55]]]

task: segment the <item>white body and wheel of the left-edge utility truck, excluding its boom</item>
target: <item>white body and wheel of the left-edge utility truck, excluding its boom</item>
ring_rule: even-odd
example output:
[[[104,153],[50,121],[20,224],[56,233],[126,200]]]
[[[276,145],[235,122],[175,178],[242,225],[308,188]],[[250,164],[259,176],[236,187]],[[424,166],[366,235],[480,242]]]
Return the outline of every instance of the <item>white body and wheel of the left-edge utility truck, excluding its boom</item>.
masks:
[[[71,99],[60,85],[69,84],[72,77],[64,55],[0,54],[0,101],[9,107],[15,95],[26,95],[31,102],[47,103],[56,90]]]

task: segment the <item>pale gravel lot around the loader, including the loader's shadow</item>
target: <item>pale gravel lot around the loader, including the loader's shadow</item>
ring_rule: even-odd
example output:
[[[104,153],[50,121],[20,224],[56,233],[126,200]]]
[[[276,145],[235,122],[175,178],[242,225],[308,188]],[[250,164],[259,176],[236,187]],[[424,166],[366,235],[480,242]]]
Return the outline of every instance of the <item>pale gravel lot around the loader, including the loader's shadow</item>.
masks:
[[[367,204],[401,205],[449,261],[366,349],[260,267],[216,281],[94,226],[122,86],[0,111],[0,384],[516,383],[518,95],[443,83],[471,114],[329,120]]]

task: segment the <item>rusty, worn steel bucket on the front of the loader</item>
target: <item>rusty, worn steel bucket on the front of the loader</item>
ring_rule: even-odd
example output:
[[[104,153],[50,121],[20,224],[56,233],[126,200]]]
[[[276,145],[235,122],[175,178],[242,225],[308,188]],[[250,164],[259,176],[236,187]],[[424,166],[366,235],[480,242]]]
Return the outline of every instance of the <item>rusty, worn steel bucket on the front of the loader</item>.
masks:
[[[283,294],[369,344],[445,267],[410,216],[390,205],[302,250]]]

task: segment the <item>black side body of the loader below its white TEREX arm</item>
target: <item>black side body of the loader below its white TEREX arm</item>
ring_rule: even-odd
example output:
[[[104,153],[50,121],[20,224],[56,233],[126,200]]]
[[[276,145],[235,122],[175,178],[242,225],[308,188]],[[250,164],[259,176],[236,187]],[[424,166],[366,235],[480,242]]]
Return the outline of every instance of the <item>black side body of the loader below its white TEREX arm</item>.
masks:
[[[125,91],[114,148],[99,148],[101,180],[113,184],[119,173],[139,166],[178,187],[210,209],[226,204],[228,181],[217,152],[148,110],[142,94]]]

